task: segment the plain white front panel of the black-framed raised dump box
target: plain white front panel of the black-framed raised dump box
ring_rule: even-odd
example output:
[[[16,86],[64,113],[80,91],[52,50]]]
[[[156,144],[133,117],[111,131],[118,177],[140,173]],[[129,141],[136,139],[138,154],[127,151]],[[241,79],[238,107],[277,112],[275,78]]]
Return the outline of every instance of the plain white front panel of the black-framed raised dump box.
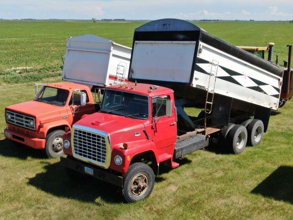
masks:
[[[135,41],[131,78],[189,83],[196,42]]]

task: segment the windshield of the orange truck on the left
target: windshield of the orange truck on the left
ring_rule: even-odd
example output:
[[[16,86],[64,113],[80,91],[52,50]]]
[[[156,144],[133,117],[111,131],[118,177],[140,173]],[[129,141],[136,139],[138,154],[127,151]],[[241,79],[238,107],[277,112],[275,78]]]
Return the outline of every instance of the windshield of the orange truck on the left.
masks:
[[[34,100],[55,106],[64,106],[68,95],[69,91],[65,89],[43,87]]]

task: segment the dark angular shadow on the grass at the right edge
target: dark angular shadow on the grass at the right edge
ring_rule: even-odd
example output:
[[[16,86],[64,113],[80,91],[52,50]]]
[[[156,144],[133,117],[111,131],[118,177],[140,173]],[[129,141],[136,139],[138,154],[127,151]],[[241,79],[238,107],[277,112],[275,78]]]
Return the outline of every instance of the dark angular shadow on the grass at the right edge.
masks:
[[[293,167],[280,166],[251,193],[293,203]]]

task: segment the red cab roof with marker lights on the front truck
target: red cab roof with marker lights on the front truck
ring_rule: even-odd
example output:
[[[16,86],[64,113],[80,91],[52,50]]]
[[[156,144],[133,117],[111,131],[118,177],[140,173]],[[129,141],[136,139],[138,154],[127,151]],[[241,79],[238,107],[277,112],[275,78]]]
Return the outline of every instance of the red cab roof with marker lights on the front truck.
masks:
[[[159,87],[152,84],[144,84],[144,83],[127,83],[124,85],[114,85],[107,87],[109,89],[115,89],[120,91],[127,91],[127,92],[133,92],[141,95],[146,95],[149,97],[173,93],[174,91],[170,88],[166,87]]]

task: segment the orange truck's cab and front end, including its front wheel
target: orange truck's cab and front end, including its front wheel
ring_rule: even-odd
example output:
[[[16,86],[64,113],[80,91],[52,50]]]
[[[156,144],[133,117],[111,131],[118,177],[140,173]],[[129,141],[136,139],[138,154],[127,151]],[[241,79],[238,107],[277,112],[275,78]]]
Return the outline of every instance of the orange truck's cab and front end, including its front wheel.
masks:
[[[32,101],[5,108],[4,135],[14,142],[45,149],[49,157],[58,157],[63,155],[63,133],[70,131],[83,114],[95,111],[89,86],[69,82],[47,84]]]

